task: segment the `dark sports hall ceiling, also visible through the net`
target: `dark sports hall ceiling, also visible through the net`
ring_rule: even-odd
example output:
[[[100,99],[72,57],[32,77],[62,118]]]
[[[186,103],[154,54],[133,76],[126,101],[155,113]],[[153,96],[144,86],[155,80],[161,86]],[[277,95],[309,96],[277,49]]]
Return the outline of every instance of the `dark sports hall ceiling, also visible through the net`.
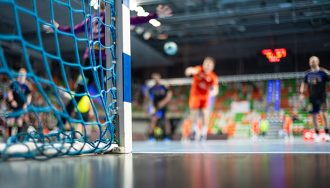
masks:
[[[50,20],[50,0],[35,1],[38,15]],[[16,2],[32,10],[33,0]],[[73,8],[81,8],[80,2],[70,1]],[[88,1],[85,2],[88,6]],[[312,54],[330,61],[328,0],[136,0],[136,3],[148,12],[154,12],[159,4],[169,5],[173,16],[159,19],[159,27],[149,23],[132,27],[133,68],[147,66],[157,70],[160,66],[169,66],[168,73],[182,76],[184,67],[200,63],[204,56],[210,55],[222,64],[222,74],[255,73],[256,62],[265,61],[261,55],[265,48],[287,49],[290,63],[282,64],[279,71],[307,68],[306,58]],[[68,8],[54,3],[54,10],[59,23],[69,24]],[[12,8],[1,6],[0,17],[0,33],[13,32]],[[20,18],[23,36],[37,43],[38,27],[34,18],[24,13],[20,13]],[[75,24],[83,19],[80,14],[74,14],[73,18]],[[146,32],[151,34],[148,40],[143,37]],[[42,39],[46,50],[54,52],[54,36],[43,33]],[[63,57],[72,58],[73,40],[61,37],[59,41]],[[178,44],[176,55],[163,52],[166,41]],[[81,54],[84,48],[85,44],[79,43]],[[271,66],[268,68],[262,67],[265,72],[274,70]]]

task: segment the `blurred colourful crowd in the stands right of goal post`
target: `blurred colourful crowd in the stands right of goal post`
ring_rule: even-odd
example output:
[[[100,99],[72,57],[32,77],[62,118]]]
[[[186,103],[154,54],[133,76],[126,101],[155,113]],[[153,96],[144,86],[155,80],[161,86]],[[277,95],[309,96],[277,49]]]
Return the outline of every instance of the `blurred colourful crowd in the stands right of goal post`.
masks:
[[[267,111],[267,83],[237,82],[221,84],[219,94],[214,99],[209,124],[209,134],[226,134],[229,137],[239,135],[240,129],[246,130],[246,137],[252,139],[267,136],[270,121],[278,120],[278,136],[290,140],[294,135],[302,135],[304,131],[313,127],[311,115],[308,114],[310,106],[306,100],[299,99],[299,85],[302,80],[288,79],[281,81],[280,88],[280,111],[274,109]],[[148,117],[150,100],[147,95],[148,85],[135,85],[133,88],[133,118]],[[187,118],[188,85],[171,85],[173,97],[168,104],[169,118],[180,118],[179,124],[172,125],[181,127],[177,134],[184,138],[191,134],[191,122]],[[330,87],[328,86],[328,91]],[[248,101],[250,111],[245,113],[232,113],[233,102]]]

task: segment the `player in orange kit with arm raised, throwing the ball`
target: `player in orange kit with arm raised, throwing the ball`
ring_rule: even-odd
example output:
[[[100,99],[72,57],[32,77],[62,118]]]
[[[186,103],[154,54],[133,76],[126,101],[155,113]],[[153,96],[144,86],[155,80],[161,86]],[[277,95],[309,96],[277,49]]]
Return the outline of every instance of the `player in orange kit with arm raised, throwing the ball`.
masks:
[[[215,60],[206,57],[202,66],[188,67],[185,70],[186,76],[192,76],[190,89],[189,108],[190,118],[193,124],[194,139],[206,140],[209,122],[208,100],[211,96],[218,95],[219,86],[217,75],[213,72]],[[198,127],[199,119],[202,120],[202,131]]]

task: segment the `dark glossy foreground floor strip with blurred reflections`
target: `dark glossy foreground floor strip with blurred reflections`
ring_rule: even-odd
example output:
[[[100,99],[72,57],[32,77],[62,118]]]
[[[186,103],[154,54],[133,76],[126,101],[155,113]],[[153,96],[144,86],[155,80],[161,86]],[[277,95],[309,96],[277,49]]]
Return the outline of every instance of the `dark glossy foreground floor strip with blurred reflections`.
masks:
[[[130,154],[0,163],[0,187],[328,187],[325,154]]]

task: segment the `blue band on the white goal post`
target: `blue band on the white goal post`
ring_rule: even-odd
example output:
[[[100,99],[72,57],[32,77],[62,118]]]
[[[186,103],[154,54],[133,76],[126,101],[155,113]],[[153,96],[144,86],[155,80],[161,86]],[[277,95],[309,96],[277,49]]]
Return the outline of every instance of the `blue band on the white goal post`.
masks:
[[[124,102],[132,102],[131,56],[123,53]]]

